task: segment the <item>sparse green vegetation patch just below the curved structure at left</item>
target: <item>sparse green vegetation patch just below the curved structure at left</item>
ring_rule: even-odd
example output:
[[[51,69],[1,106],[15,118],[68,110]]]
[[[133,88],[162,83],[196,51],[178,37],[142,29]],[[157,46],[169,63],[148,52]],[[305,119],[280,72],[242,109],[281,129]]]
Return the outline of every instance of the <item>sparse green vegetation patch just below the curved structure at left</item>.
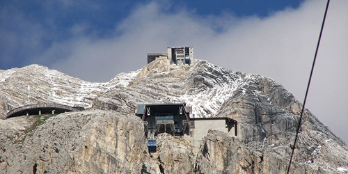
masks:
[[[26,129],[24,130],[24,132],[22,133],[16,133],[16,136],[17,138],[14,140],[13,143],[16,143],[16,144],[24,144],[24,141],[26,139],[26,136],[32,136],[35,132],[35,129],[38,128],[38,126],[42,125],[43,123],[46,122],[46,120],[52,116],[55,116],[55,115],[52,115],[52,114],[45,114],[45,115],[35,115],[35,116],[32,116],[34,120],[33,122],[33,125],[29,126],[29,127],[26,127]]]

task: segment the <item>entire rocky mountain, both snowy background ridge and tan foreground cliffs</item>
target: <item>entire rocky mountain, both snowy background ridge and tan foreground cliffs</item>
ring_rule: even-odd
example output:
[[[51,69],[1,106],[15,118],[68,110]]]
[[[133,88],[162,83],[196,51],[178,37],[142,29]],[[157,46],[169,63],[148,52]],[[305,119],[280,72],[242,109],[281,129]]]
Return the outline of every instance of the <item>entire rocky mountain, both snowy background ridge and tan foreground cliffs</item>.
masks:
[[[196,118],[228,117],[238,135],[209,130],[157,137],[149,154],[137,104],[186,102]],[[86,111],[6,118],[25,104]],[[196,60],[159,59],[90,83],[40,65],[0,71],[0,168],[4,173],[285,173],[302,104],[276,81]],[[116,111],[115,111],[116,110]],[[306,109],[291,173],[346,173],[348,148]],[[1,172],[0,172],[1,173]]]

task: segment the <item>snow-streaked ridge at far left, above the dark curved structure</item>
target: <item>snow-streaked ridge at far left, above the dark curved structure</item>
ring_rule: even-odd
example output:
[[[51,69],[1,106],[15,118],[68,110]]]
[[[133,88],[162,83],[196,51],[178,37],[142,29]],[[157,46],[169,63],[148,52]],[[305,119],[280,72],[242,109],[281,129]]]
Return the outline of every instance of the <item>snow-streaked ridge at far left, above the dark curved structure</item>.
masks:
[[[58,103],[88,108],[95,97],[112,88],[127,86],[136,74],[122,73],[106,83],[91,83],[40,65],[1,70],[0,118],[11,109],[26,104]]]

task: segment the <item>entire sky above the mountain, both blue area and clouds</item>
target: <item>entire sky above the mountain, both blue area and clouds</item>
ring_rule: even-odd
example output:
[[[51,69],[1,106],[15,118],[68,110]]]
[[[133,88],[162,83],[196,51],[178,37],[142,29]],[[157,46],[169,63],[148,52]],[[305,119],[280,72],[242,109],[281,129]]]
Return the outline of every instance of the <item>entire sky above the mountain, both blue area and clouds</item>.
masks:
[[[150,52],[262,74],[303,102],[325,0],[0,1],[0,69],[37,63],[87,81],[143,68]],[[331,1],[306,108],[348,143],[348,1]]]

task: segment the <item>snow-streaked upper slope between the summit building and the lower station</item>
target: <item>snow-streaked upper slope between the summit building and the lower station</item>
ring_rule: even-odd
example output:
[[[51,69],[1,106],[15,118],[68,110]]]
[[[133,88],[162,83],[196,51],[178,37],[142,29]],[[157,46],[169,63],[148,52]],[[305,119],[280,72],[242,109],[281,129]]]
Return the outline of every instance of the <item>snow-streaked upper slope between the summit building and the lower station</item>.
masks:
[[[255,88],[248,92],[250,95],[266,98],[271,104],[275,99],[267,91],[260,91],[257,84],[260,79],[274,88],[283,88],[259,74],[234,72],[207,61],[196,61],[189,67],[169,65],[168,61],[160,60],[143,68],[127,88],[111,89],[102,96],[115,98],[118,106],[128,106],[125,109],[129,110],[137,104],[185,102],[193,106],[193,117],[215,117],[230,97],[240,92],[245,94],[251,86]],[[285,93],[294,101],[290,93],[286,90]]]

